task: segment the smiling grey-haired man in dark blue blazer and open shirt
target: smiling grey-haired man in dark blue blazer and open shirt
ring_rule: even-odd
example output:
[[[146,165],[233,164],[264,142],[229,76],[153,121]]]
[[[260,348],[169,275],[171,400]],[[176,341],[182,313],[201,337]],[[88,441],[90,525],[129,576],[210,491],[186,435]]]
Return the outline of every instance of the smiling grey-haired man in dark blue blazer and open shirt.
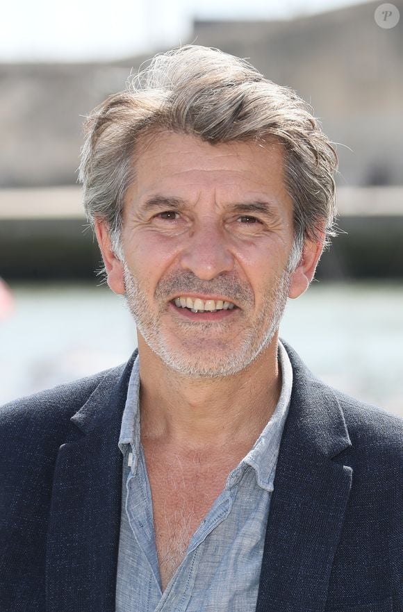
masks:
[[[3,407],[1,611],[403,610],[402,424],[278,338],[335,169],[309,107],[216,49],[94,110],[84,205],[138,350]]]

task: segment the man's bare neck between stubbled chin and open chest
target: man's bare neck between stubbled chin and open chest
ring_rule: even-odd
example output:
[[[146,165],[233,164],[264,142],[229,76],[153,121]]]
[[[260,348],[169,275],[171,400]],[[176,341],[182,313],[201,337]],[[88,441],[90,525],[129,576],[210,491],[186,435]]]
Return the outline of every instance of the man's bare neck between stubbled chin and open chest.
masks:
[[[167,369],[139,336],[142,438],[183,449],[252,446],[281,392],[277,340],[235,376],[194,381]]]

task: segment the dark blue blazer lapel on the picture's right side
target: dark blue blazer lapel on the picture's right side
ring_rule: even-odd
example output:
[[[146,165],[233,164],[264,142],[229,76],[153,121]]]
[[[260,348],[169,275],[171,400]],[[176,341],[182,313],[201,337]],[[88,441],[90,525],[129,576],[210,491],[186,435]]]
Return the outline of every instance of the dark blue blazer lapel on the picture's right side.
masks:
[[[285,345],[293,393],[281,439],[256,612],[320,612],[343,527],[352,468],[340,404]]]

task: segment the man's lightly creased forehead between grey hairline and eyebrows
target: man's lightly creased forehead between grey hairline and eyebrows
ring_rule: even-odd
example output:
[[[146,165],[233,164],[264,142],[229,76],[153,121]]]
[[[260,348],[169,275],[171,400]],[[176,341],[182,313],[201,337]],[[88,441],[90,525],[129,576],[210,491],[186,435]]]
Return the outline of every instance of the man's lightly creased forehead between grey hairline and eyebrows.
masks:
[[[194,135],[174,132],[144,136],[133,158],[135,180],[130,200],[151,192],[188,197],[212,188],[234,195],[261,192],[287,198],[283,147],[278,142],[211,144]]]

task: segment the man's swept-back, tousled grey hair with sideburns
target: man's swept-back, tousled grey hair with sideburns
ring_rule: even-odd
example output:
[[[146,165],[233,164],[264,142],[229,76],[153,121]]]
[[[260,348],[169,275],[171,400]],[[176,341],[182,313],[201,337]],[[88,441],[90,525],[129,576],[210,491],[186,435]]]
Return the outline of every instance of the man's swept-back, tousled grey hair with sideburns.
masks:
[[[290,270],[304,240],[324,247],[336,236],[336,151],[313,109],[290,88],[269,81],[246,60],[219,49],[185,45],[158,53],[149,67],[109,96],[85,123],[79,181],[88,221],[103,219],[115,254],[123,259],[120,232],[127,188],[135,180],[136,144],[159,131],[196,135],[217,144],[280,142],[285,182],[293,200],[294,248]]]

